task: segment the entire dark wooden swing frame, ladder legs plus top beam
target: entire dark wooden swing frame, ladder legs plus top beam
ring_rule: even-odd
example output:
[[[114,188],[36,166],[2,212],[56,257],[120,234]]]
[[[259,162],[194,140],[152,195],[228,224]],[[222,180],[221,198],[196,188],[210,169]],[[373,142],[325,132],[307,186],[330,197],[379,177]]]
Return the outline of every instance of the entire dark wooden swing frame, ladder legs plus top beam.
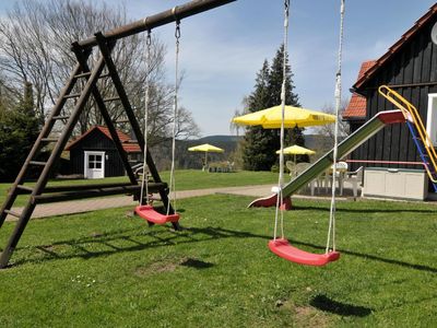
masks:
[[[51,110],[51,114],[47,118],[43,130],[40,131],[34,147],[32,148],[27,159],[25,160],[15,181],[11,186],[8,197],[0,209],[0,227],[3,225],[8,215],[15,216],[17,219],[14,230],[8,241],[8,244],[2,248],[0,255],[0,269],[5,268],[9,260],[28,223],[32,218],[32,213],[38,203],[56,202],[71,199],[83,199],[90,197],[99,197],[118,194],[133,194],[138,195],[141,189],[141,185],[137,181],[137,178],[129,165],[128,156],[123,151],[121,141],[117,134],[113,119],[107,110],[106,103],[109,101],[119,101],[126,112],[128,120],[131,125],[132,131],[140,144],[141,150],[144,152],[144,136],[140,128],[139,121],[137,120],[129,98],[126,94],[121,79],[117,72],[116,65],[110,56],[118,39],[131,36],[141,32],[152,31],[158,26],[169,24],[173,22],[181,21],[191,15],[234,2],[236,0],[194,0],[187,2],[182,5],[175,7],[170,10],[157,13],[155,15],[147,16],[143,20],[130,23],[128,25],[111,30],[106,33],[98,32],[93,37],[84,40],[74,42],[71,50],[76,57],[76,65],[73,68],[70,78],[68,79],[64,87],[61,90],[60,95]],[[87,59],[91,56],[93,48],[97,48],[99,51],[99,58],[93,67],[88,67]],[[103,73],[106,68],[107,73]],[[118,97],[104,99],[98,87],[97,81],[99,79],[109,78],[118,93]],[[78,81],[86,81],[80,93],[72,93]],[[130,183],[126,184],[90,184],[85,186],[49,186],[47,181],[50,174],[54,171],[56,163],[58,162],[63,149],[70,139],[72,131],[79,120],[80,115],[83,113],[84,107],[88,98],[93,96],[97,108],[99,109],[102,117],[107,126],[110,137],[117,148],[120,155],[121,162],[126,168],[127,175]],[[62,115],[62,108],[69,99],[75,99],[74,108],[70,116]],[[67,120],[62,133],[59,138],[51,138],[50,132],[59,120]],[[40,149],[48,144],[54,143],[52,151],[47,162],[35,161],[36,155]],[[149,184],[149,190],[151,192],[158,192],[165,207],[167,207],[168,199],[168,187],[167,184],[163,183],[160,173],[153,162],[152,156],[147,151],[146,164],[150,174],[154,180],[153,184]],[[39,167],[40,174],[37,178],[35,186],[29,187],[25,185],[26,174],[32,167]],[[12,210],[12,207],[19,195],[26,195],[27,201],[23,210],[17,213]],[[174,212],[170,207],[172,213]],[[175,229],[179,225],[177,222],[172,223]]]

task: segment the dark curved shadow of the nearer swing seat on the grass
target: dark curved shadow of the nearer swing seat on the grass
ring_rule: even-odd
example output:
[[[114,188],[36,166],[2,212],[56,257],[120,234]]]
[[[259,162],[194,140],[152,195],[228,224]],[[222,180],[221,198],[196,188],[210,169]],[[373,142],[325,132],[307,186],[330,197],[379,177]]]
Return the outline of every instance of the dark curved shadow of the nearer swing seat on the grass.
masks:
[[[326,295],[317,295],[309,302],[309,304],[320,311],[344,317],[366,317],[371,314],[371,308],[336,302]]]

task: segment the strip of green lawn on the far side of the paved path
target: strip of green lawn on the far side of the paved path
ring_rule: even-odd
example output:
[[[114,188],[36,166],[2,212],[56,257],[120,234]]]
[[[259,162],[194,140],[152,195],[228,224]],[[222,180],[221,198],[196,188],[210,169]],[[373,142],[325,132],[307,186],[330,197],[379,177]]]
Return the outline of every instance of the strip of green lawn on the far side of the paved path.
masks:
[[[161,174],[163,181],[169,183],[169,172]],[[175,173],[176,189],[177,190],[191,190],[191,189],[205,189],[205,188],[220,188],[220,187],[235,187],[235,186],[250,186],[263,184],[276,184],[277,174],[271,172],[249,172],[240,171],[235,173],[208,173],[200,169],[180,169]],[[110,183],[128,183],[129,178],[126,176],[110,177],[105,179],[76,179],[76,180],[50,180],[49,186],[64,186],[64,185],[84,185],[84,184],[110,184]],[[33,183],[28,184],[34,185]],[[11,184],[0,184],[0,204],[3,203]],[[20,196],[14,206],[24,206],[27,198]]]

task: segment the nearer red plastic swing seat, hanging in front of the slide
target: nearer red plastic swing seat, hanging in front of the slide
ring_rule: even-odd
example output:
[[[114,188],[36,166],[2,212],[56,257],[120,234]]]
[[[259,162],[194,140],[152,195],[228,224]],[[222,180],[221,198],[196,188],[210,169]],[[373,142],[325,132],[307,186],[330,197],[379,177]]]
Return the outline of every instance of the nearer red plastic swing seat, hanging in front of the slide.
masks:
[[[340,258],[339,251],[330,251],[328,254],[314,254],[292,246],[287,239],[277,238],[269,242],[269,248],[279,257],[288,261],[306,266],[326,266]]]

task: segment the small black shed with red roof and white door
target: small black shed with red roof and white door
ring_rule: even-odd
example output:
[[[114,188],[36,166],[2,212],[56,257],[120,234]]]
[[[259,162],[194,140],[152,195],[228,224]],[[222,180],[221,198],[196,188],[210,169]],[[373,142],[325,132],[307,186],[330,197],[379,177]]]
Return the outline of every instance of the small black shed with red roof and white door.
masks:
[[[142,161],[142,152],[138,142],[117,130],[118,138],[128,159],[132,164]],[[70,152],[71,173],[85,178],[104,178],[126,174],[118,150],[108,128],[94,126],[75,140],[71,141],[66,151]]]

